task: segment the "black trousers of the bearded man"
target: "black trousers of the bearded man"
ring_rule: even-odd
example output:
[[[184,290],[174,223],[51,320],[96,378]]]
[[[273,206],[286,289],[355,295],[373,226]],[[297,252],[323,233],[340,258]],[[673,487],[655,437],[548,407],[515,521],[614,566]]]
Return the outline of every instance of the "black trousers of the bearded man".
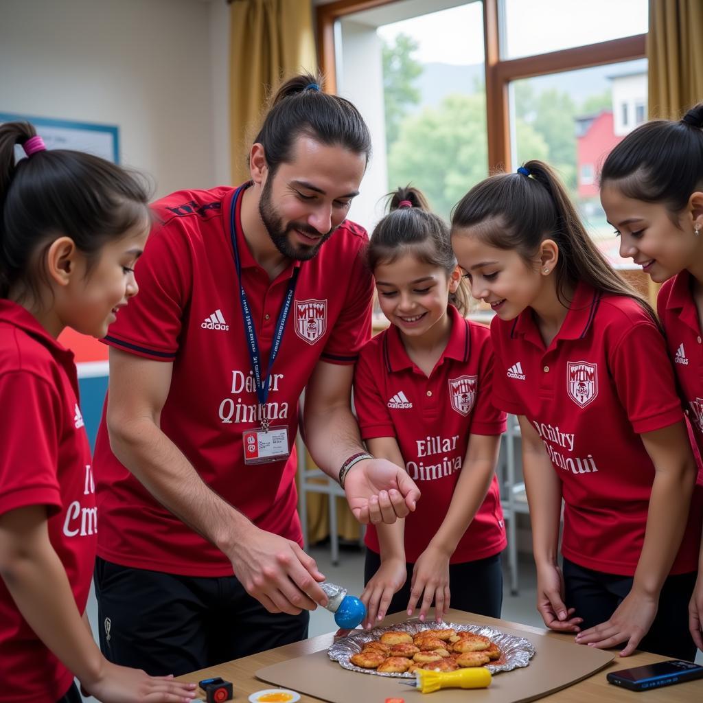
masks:
[[[95,590],[103,654],[151,676],[180,676],[307,638],[307,610],[270,613],[235,576],[176,576],[98,557]]]

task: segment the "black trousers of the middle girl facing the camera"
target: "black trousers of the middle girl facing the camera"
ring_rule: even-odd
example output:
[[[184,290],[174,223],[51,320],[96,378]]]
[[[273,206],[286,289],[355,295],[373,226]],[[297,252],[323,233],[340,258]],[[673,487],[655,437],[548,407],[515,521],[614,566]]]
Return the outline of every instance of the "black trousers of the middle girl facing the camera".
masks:
[[[380,555],[367,549],[366,564],[363,569],[364,583],[371,580],[380,565]],[[414,564],[406,563],[408,578],[403,588],[393,596],[388,614],[401,612],[408,607],[414,566]],[[450,564],[449,590],[451,591],[449,607],[488,617],[501,617],[501,607],[503,606],[501,555],[496,554],[492,557],[486,557],[486,559],[478,559],[475,562]],[[420,600],[420,602],[422,601]],[[418,602],[418,607],[420,602]]]

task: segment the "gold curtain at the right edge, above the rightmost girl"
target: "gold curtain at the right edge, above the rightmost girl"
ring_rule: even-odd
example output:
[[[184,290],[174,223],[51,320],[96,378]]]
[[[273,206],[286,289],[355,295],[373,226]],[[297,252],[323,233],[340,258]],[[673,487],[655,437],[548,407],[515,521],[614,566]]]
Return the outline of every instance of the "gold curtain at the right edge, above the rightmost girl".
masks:
[[[650,0],[650,118],[678,120],[703,100],[703,2]]]

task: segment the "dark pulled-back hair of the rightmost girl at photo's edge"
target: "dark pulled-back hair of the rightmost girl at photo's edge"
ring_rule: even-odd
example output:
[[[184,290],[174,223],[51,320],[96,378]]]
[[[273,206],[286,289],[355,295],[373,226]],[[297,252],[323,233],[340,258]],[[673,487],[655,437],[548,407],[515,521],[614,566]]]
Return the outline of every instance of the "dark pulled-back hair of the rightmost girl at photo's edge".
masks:
[[[601,187],[617,181],[627,198],[663,202],[681,212],[691,193],[703,188],[703,103],[683,119],[640,124],[608,154]]]

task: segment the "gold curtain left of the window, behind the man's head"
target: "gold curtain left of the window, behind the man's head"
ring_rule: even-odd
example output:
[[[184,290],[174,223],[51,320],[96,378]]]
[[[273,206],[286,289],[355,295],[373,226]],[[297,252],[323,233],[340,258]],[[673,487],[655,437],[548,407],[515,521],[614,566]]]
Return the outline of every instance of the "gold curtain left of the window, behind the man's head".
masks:
[[[230,21],[232,181],[242,183],[267,91],[283,77],[315,72],[317,58],[310,0],[233,0]]]

